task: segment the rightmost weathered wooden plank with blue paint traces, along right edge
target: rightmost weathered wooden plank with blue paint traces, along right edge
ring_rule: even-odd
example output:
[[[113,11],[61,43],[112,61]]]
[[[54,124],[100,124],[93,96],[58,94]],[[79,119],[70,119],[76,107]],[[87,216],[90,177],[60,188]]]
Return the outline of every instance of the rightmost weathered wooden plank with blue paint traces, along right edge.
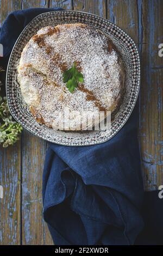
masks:
[[[142,32],[142,86],[140,143],[146,190],[163,184],[163,57],[159,44],[163,42],[162,1],[139,1]]]

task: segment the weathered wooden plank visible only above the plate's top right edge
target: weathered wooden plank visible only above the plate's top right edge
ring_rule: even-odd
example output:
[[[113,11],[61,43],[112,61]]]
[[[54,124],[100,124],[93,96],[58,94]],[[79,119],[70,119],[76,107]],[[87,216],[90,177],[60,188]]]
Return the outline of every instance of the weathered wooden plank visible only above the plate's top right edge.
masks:
[[[85,11],[101,17],[106,17],[106,1],[105,0],[74,0],[74,10]]]

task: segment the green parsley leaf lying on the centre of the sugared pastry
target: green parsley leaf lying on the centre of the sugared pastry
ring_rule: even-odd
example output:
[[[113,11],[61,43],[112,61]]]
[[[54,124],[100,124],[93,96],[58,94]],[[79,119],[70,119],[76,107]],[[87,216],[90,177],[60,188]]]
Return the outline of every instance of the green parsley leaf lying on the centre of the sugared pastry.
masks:
[[[68,88],[70,93],[74,92],[74,89],[78,87],[79,83],[83,83],[83,74],[77,70],[76,62],[73,63],[71,69],[68,69],[64,72],[63,81],[64,83],[66,83],[66,87]]]

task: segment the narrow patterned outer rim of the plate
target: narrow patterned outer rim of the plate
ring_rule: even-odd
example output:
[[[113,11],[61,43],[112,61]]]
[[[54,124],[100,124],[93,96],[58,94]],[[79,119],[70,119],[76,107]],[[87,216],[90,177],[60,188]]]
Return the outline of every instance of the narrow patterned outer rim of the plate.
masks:
[[[26,27],[24,27],[23,31],[22,31],[21,34],[18,36],[18,38],[17,38],[17,40],[16,40],[16,42],[15,42],[13,48],[12,48],[12,51],[11,51],[11,54],[10,54],[10,57],[9,57],[8,66],[7,66],[7,76],[6,76],[6,81],[5,81],[5,89],[6,89],[6,95],[7,95],[7,102],[8,102],[9,111],[10,111],[12,117],[14,117],[14,119],[15,119],[18,123],[20,123],[24,129],[26,129],[27,131],[31,132],[33,135],[35,135],[35,136],[37,136],[37,137],[39,137],[39,138],[45,139],[45,140],[48,141],[48,142],[52,142],[52,140],[46,138],[46,136],[37,135],[37,134],[35,133],[35,131],[33,131],[32,129],[30,129],[29,127],[25,127],[25,126],[24,126],[23,122],[18,118],[17,114],[15,114],[15,112],[12,111],[12,104],[11,104],[11,102],[10,102],[10,97],[9,97],[9,95],[8,95],[8,86],[9,86],[9,83],[8,83],[8,72],[9,72],[9,66],[10,66],[10,62],[11,62],[12,53],[13,53],[13,51],[14,51],[14,49],[15,49],[15,46],[17,45],[18,40],[20,39],[20,37],[22,36],[22,34],[24,33],[24,31],[26,31],[27,27],[30,26],[30,24],[33,23],[34,20],[36,20],[39,16],[42,16],[42,15],[44,15],[44,14],[50,14],[50,13],[53,13],[54,15],[55,15],[56,13],[61,13],[61,14],[63,14],[63,13],[64,13],[64,14],[66,14],[66,13],[70,13],[70,14],[73,14],[73,13],[74,13],[74,14],[75,14],[75,13],[87,14],[87,15],[90,15],[90,16],[92,16],[92,17],[97,17],[98,19],[101,19],[101,20],[103,20],[103,21],[109,22],[111,26],[117,28],[118,30],[122,31],[123,34],[127,35],[127,38],[131,41],[131,43],[133,44],[133,46],[134,46],[135,49],[136,49],[136,60],[137,60],[137,67],[138,67],[137,83],[136,83],[136,89],[135,89],[136,97],[134,98],[134,100],[133,100],[133,102],[132,102],[132,105],[131,105],[131,107],[130,107],[130,112],[126,114],[126,118],[122,121],[121,126],[120,126],[116,131],[113,131],[113,132],[111,133],[111,135],[110,135],[108,138],[103,139],[103,140],[101,140],[101,141],[99,141],[99,142],[88,142],[88,143],[84,142],[84,143],[82,144],[82,143],[74,143],[74,142],[69,142],[69,143],[67,142],[67,143],[66,143],[66,142],[57,142],[57,141],[53,141],[53,143],[59,144],[59,145],[66,145],[66,146],[70,146],[70,147],[71,147],[71,146],[77,146],[77,147],[81,147],[81,146],[82,146],[82,147],[84,147],[84,146],[87,146],[87,145],[96,145],[96,144],[101,144],[101,143],[104,143],[104,142],[106,142],[106,141],[109,141],[109,140],[110,140],[111,138],[113,138],[113,137],[122,129],[122,127],[126,124],[127,120],[129,119],[129,117],[130,117],[130,115],[131,115],[131,113],[133,112],[133,109],[134,109],[134,107],[135,107],[135,104],[136,104],[136,101],[137,101],[137,97],[139,96],[140,80],[141,80],[140,56],[139,56],[138,47],[137,47],[137,45],[136,45],[134,39],[131,38],[131,36],[130,36],[127,32],[125,32],[121,27],[115,25],[113,22],[111,22],[111,21],[109,21],[109,20],[107,20],[107,19],[105,19],[105,18],[103,18],[103,17],[101,17],[101,16],[99,16],[99,15],[87,13],[87,12],[85,12],[85,11],[76,11],[76,10],[75,10],[75,11],[73,11],[73,10],[47,11],[46,13],[41,13],[41,14],[37,15],[36,17],[34,17],[34,19],[33,19],[32,21],[30,21]]]

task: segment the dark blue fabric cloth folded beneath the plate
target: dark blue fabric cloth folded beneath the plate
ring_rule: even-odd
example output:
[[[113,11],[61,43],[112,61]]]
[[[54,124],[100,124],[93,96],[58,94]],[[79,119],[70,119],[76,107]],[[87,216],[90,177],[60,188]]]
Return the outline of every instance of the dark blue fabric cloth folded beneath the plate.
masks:
[[[56,9],[26,9],[7,17],[0,34],[4,47],[0,65],[6,69],[9,54],[23,28],[35,16],[49,10]],[[121,131],[102,144],[87,147],[49,144],[43,170],[43,216],[56,245],[148,243],[143,218],[149,227],[156,215],[153,211],[149,217],[145,211],[153,209],[147,195],[142,208],[137,115],[135,107]],[[160,201],[155,204],[156,208],[159,204]],[[150,230],[156,233],[158,225],[159,221]],[[159,234],[161,231],[160,226]]]

